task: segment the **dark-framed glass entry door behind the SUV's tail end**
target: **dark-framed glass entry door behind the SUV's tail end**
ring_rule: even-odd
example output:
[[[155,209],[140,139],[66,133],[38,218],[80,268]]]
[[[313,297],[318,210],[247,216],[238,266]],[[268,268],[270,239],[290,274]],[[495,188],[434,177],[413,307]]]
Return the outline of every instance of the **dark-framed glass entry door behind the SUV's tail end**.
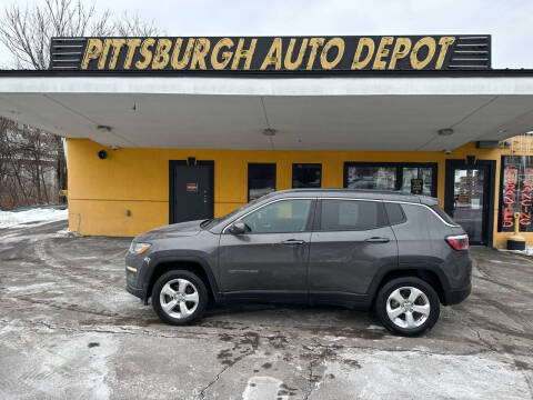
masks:
[[[445,211],[463,227],[472,244],[491,244],[494,177],[491,163],[446,162]]]

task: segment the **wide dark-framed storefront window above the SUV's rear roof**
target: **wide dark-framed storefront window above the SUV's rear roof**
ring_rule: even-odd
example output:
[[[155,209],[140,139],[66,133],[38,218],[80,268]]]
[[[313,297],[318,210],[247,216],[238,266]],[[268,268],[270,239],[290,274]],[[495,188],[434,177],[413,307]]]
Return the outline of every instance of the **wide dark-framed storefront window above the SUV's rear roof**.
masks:
[[[436,196],[435,163],[346,162],[344,187]]]

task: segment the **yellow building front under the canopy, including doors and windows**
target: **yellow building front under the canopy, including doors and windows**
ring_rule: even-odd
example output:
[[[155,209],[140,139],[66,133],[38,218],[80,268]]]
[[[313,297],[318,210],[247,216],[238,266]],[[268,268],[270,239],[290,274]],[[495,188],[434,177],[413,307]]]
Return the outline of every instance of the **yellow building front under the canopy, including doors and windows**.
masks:
[[[471,142],[445,153],[112,150],[91,140],[70,139],[70,230],[135,236],[169,222],[220,217],[273,190],[355,188],[438,197],[471,241],[480,244],[504,247],[514,229],[510,214],[520,211],[521,231],[530,242],[530,137],[510,142],[515,144],[503,142],[496,149]],[[98,157],[101,150],[108,153],[103,160]]]

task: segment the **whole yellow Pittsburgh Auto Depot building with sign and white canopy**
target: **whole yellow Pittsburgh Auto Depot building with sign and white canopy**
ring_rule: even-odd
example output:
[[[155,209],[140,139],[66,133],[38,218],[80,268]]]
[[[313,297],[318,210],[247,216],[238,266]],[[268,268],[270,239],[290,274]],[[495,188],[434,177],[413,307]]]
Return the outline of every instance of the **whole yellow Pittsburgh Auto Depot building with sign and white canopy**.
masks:
[[[533,244],[533,71],[493,70],[490,51],[489,36],[59,38],[50,71],[0,71],[0,116],[68,139],[80,234],[345,187],[438,197],[486,246],[519,211]]]

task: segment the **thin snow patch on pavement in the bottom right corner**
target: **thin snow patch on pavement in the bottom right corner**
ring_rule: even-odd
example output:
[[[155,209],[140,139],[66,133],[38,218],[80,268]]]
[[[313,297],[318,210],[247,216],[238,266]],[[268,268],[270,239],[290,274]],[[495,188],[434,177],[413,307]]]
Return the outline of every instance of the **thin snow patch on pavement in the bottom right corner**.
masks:
[[[420,350],[428,351],[423,347]],[[316,397],[323,399],[526,399],[527,382],[505,361],[485,356],[431,354],[419,351],[340,352],[325,362]],[[342,362],[356,360],[359,368]],[[414,393],[414,394],[413,394]]]

